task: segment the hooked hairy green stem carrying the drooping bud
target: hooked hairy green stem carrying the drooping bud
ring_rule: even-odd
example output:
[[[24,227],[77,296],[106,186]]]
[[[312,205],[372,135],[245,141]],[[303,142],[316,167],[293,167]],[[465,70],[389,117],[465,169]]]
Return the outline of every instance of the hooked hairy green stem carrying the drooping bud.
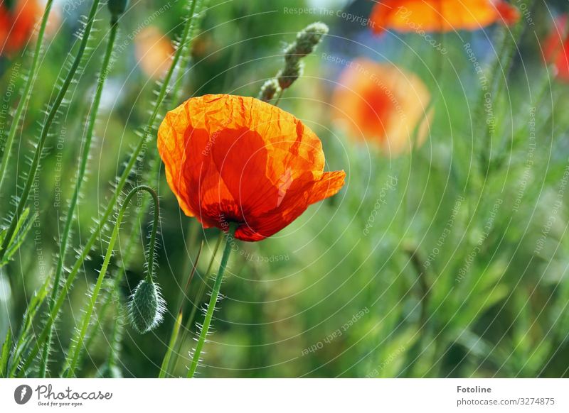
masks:
[[[107,268],[109,267],[109,263],[112,257],[113,249],[115,248],[115,243],[117,242],[117,238],[119,236],[119,228],[122,222],[122,218],[124,216],[124,212],[127,210],[127,206],[129,205],[130,199],[137,194],[139,191],[146,191],[151,194],[152,199],[154,201],[154,222],[152,223],[152,231],[150,233],[150,241],[148,246],[148,271],[147,271],[147,280],[149,282],[154,282],[153,275],[154,275],[154,246],[156,244],[156,231],[159,224],[159,202],[158,202],[158,195],[151,187],[147,187],[146,185],[140,185],[139,187],[135,187],[132,191],[127,194],[127,197],[124,199],[124,203],[119,211],[117,216],[117,224],[115,224],[115,228],[112,230],[111,238],[109,241],[109,247],[107,248],[107,253],[105,254],[105,259],[103,260],[101,270],[99,272],[99,277],[97,277],[97,282],[95,284],[95,288],[92,291],[90,301],[87,303],[87,308],[83,313],[83,319],[81,321],[81,327],[76,340],[72,341],[70,349],[68,351],[68,355],[65,358],[64,363],[64,371],[66,370],[66,376],[68,378],[73,378],[75,375],[75,368],[78,365],[79,353],[83,349],[83,343],[85,341],[85,334],[87,334],[87,327],[91,321],[91,315],[93,309],[95,308],[95,303],[97,302],[97,297],[99,297],[99,292],[102,287],[102,282],[105,280],[105,275],[107,274]]]

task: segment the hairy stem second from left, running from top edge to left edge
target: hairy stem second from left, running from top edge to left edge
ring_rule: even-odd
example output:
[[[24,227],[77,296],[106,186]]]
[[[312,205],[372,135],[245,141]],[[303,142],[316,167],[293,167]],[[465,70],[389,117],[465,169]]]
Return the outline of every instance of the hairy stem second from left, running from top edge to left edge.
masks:
[[[43,146],[46,144],[46,140],[48,138],[48,133],[51,127],[51,124],[55,120],[55,116],[58,113],[58,110],[65,98],[65,94],[69,89],[71,82],[73,82],[73,77],[75,76],[75,72],[77,72],[78,67],[80,65],[81,59],[85,50],[87,48],[87,41],[89,40],[89,35],[91,33],[91,29],[93,23],[95,23],[95,15],[97,14],[97,9],[99,7],[100,0],[94,0],[91,6],[91,10],[89,12],[89,17],[87,18],[87,25],[85,26],[85,33],[83,34],[83,38],[81,39],[81,43],[79,45],[79,50],[77,55],[75,55],[75,60],[73,60],[73,64],[71,68],[63,80],[63,84],[59,89],[57,97],[55,97],[55,101],[50,104],[50,108],[48,111],[48,116],[46,118],[45,123],[43,123],[43,127],[41,129],[40,139],[38,145],[36,146],[36,152],[33,155],[33,160],[31,162],[30,170],[28,171],[28,177],[26,179],[26,184],[23,187],[23,191],[21,196],[18,200],[18,206],[16,206],[16,212],[14,216],[12,216],[10,226],[8,227],[8,231],[6,231],[6,237],[4,238],[4,242],[0,246],[0,261],[4,258],[6,254],[6,250],[8,250],[8,246],[12,235],[14,235],[14,231],[16,231],[16,226],[18,224],[18,218],[21,215],[26,203],[28,202],[28,197],[30,195],[31,187],[33,186],[34,178],[36,177],[36,172],[38,171],[38,167],[40,165],[41,153],[43,151]],[[45,16],[44,16],[45,17]],[[33,75],[32,75],[33,76]]]

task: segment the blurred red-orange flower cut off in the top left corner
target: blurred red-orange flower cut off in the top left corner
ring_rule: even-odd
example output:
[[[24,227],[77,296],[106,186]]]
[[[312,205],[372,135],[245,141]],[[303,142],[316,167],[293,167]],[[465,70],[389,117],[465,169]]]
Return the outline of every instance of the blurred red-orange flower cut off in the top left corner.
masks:
[[[18,0],[11,9],[0,1],[0,55],[11,55],[26,45],[42,12],[37,0]]]

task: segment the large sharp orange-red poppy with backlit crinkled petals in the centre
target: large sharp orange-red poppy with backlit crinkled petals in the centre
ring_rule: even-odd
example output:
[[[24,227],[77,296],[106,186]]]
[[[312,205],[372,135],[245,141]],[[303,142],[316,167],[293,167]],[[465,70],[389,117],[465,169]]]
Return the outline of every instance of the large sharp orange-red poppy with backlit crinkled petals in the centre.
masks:
[[[344,185],[323,172],[319,138],[282,109],[228,94],[188,99],[158,130],[166,180],[181,209],[205,228],[260,241]]]

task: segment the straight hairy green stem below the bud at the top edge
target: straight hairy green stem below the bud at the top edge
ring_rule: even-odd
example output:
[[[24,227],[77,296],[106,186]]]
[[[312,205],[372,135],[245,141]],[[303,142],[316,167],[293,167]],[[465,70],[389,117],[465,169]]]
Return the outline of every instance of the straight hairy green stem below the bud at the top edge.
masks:
[[[73,191],[73,196],[71,197],[69,203],[67,216],[65,217],[65,226],[63,227],[63,233],[61,233],[60,236],[58,266],[57,269],[55,270],[55,280],[53,281],[53,290],[51,290],[51,295],[49,299],[50,310],[53,309],[53,305],[55,304],[55,298],[57,297],[59,292],[59,284],[60,284],[61,274],[63,272],[63,262],[65,261],[65,255],[68,252],[69,233],[71,231],[71,225],[73,224],[74,221],[73,213],[75,211],[75,206],[77,206],[77,202],[79,199],[81,184],[83,184],[83,180],[85,179],[85,170],[87,169],[87,160],[89,159],[93,131],[95,130],[95,122],[97,121],[97,113],[99,111],[99,105],[101,101],[102,89],[103,86],[105,85],[105,79],[107,79],[109,64],[112,56],[112,50],[115,47],[115,40],[117,39],[118,27],[119,26],[117,22],[111,24],[109,41],[107,43],[107,50],[105,50],[105,57],[103,57],[102,60],[102,67],[99,75],[99,81],[97,82],[95,98],[93,99],[93,103],[89,114],[89,120],[87,122],[87,135],[85,136],[85,145],[83,145],[83,153],[81,154],[77,181],[75,182],[75,190]],[[53,326],[51,326],[48,339],[45,345],[43,346],[43,353],[40,360],[40,370],[39,370],[40,378],[46,377],[46,367],[48,364],[48,356],[51,351],[52,335],[53,335]]]

